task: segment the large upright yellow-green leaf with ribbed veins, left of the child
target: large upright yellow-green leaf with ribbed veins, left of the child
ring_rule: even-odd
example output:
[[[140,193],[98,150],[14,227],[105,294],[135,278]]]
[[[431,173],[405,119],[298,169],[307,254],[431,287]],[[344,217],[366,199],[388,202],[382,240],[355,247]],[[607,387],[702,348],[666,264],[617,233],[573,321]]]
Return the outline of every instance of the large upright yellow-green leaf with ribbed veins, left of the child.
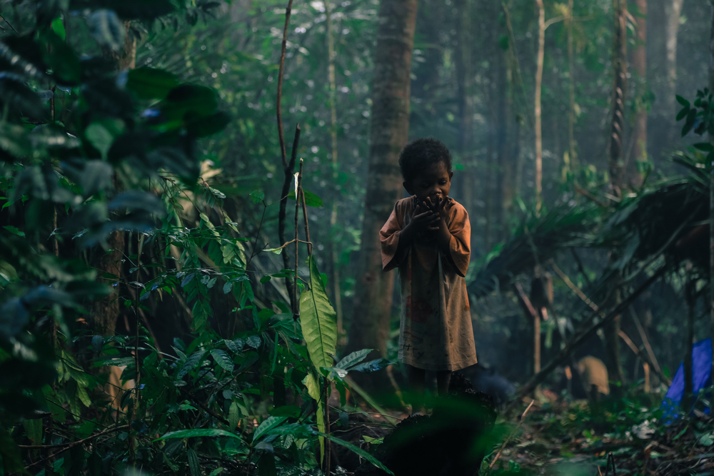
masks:
[[[337,315],[327,297],[313,256],[310,265],[310,287],[300,296],[300,325],[310,360],[316,368],[332,367],[337,346]]]

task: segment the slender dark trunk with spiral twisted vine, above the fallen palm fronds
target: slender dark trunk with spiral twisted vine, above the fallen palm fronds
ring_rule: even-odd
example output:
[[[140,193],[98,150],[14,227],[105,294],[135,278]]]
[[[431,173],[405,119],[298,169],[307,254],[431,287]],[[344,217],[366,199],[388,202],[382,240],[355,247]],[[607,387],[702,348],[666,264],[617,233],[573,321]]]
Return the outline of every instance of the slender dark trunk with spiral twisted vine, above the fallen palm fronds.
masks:
[[[623,128],[625,126],[625,90],[627,85],[627,2],[613,0],[615,6],[615,41],[613,45],[613,67],[615,82],[613,86],[613,118],[610,126],[610,186],[612,193],[620,197],[623,179]],[[615,260],[611,255],[610,262]],[[612,285],[618,287],[620,275],[613,278]],[[620,292],[615,293],[615,300],[621,299]],[[608,373],[615,382],[624,382],[625,375],[620,364],[620,316],[615,316],[605,328],[605,344],[608,350]],[[616,387],[618,388],[618,387]],[[617,390],[615,390],[617,391]]]

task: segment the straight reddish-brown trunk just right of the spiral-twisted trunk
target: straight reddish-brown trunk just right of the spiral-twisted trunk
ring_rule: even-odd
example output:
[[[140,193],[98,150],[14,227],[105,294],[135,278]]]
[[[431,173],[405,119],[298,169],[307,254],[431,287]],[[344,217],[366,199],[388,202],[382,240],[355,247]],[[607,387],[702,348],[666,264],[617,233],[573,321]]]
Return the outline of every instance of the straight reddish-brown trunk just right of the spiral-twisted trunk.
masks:
[[[637,5],[637,46],[633,51],[633,66],[637,71],[638,91],[637,96],[640,98],[637,105],[637,113],[635,116],[635,162],[647,161],[647,106],[641,100],[647,92],[647,0],[636,0]],[[633,173],[630,173],[630,182],[634,186],[642,184],[643,177],[635,167]]]

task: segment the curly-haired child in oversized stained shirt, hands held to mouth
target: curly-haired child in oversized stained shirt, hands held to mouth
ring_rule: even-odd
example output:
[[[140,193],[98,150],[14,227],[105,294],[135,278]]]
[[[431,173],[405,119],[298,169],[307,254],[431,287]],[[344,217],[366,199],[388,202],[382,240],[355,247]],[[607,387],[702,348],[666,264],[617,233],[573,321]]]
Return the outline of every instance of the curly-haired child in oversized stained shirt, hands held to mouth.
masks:
[[[466,270],[471,224],[449,198],[451,154],[433,138],[413,141],[399,156],[404,188],[411,195],[394,206],[379,232],[382,268],[399,268],[399,359],[422,410],[426,370],[436,370],[438,393],[448,391],[453,370],[476,363]]]

